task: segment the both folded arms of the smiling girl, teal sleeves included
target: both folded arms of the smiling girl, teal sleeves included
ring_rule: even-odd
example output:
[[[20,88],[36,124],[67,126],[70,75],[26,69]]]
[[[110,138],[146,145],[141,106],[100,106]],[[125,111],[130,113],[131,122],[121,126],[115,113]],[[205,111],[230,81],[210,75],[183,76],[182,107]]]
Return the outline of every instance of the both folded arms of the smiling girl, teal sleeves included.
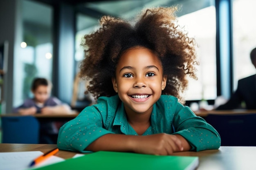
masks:
[[[219,144],[215,141],[217,138],[219,140],[219,137],[209,134],[209,130],[214,130],[212,127],[207,128],[208,124],[202,118],[193,115],[188,118],[189,115],[184,114],[182,110],[181,119],[177,116],[177,124],[173,125],[177,134],[160,133],[145,136],[115,134],[120,133],[119,130],[123,127],[123,125],[119,126],[120,121],[117,121],[119,117],[115,118],[115,113],[121,111],[112,106],[117,103],[116,101],[108,105],[102,102],[103,99],[105,98],[99,98],[98,101],[101,100],[101,103],[86,107],[75,119],[60,128],[57,142],[59,149],[76,152],[111,150],[170,155],[173,152],[191,149],[213,149]],[[183,117],[190,121],[180,121]],[[201,132],[207,133],[201,137]],[[199,143],[201,139],[205,142]]]

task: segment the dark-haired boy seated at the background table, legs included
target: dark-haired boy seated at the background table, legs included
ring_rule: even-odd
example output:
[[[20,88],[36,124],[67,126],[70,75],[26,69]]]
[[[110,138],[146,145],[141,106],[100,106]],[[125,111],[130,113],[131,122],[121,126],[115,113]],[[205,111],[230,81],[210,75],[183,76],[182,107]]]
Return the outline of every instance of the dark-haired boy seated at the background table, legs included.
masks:
[[[20,115],[71,113],[70,106],[63,104],[56,97],[50,97],[51,90],[52,83],[49,80],[35,78],[31,86],[34,98],[26,99],[22,105],[14,108],[13,112]],[[40,144],[56,144],[59,127],[65,122],[43,121],[40,123]]]

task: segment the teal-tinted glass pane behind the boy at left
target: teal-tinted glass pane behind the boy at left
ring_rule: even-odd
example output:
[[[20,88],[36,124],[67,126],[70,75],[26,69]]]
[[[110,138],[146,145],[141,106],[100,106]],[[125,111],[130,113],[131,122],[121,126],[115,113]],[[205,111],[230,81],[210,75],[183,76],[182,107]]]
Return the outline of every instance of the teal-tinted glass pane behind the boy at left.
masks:
[[[14,101],[22,104],[32,97],[30,92],[35,77],[52,80],[52,7],[29,0],[20,6],[21,27],[17,55],[14,56]]]

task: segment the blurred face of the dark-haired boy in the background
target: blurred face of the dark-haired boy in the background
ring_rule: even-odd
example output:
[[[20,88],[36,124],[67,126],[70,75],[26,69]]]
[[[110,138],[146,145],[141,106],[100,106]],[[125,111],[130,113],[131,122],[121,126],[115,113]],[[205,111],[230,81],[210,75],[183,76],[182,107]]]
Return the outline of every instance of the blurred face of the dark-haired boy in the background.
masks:
[[[32,91],[36,102],[44,104],[45,101],[50,97],[51,87],[45,85],[39,85],[36,90]]]

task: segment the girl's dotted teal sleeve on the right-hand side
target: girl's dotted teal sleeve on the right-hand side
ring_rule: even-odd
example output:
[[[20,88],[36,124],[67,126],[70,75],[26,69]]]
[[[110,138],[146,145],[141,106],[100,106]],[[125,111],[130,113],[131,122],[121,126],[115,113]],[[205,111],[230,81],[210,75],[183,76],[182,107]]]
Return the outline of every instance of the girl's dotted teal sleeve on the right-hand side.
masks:
[[[196,116],[189,107],[177,104],[173,120],[174,135],[181,135],[190,144],[191,150],[218,149],[220,135],[202,117]]]

